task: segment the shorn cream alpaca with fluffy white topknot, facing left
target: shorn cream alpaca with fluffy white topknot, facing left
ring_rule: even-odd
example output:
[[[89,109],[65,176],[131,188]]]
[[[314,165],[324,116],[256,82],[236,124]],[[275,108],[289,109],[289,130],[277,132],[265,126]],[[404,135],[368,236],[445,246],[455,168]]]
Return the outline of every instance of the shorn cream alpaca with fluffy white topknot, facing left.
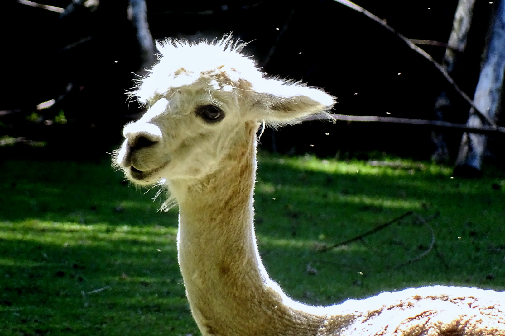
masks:
[[[178,260],[204,336],[505,335],[505,292],[423,287],[328,307],[295,302],[262,264],[254,231],[257,131],[328,114],[329,94],[266,78],[230,36],[167,39],[132,92],[148,108],[124,127],[116,164],[178,204]]]

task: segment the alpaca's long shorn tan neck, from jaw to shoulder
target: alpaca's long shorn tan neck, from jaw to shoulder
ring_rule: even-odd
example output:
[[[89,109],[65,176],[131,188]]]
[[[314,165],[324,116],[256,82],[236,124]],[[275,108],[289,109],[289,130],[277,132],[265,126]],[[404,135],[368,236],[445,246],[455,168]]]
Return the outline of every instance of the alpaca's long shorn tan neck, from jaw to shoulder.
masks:
[[[322,317],[288,307],[268,279],[254,233],[256,123],[245,124],[237,151],[197,183],[173,182],[180,209],[178,252],[200,330],[219,335],[315,335]]]

